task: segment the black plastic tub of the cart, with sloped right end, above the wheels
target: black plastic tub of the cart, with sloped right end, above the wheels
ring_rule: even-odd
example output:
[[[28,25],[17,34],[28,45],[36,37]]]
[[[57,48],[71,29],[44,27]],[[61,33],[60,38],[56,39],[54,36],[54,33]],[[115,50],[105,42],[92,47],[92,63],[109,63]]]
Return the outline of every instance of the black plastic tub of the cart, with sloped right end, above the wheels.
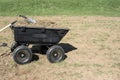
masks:
[[[19,43],[57,44],[67,29],[15,27],[14,38]]]

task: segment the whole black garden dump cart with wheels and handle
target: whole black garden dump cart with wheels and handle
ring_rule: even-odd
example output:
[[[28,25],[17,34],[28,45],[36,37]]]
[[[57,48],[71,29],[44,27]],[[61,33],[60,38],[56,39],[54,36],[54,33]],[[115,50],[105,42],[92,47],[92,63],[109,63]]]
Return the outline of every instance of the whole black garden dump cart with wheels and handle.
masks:
[[[16,22],[14,21],[6,26],[6,28],[10,27],[14,33],[15,41],[11,45],[11,51],[16,63],[26,64],[32,60],[33,53],[29,48],[30,44],[39,44],[46,47],[46,55],[51,63],[60,62],[64,59],[64,49],[57,44],[69,29],[15,26]]]

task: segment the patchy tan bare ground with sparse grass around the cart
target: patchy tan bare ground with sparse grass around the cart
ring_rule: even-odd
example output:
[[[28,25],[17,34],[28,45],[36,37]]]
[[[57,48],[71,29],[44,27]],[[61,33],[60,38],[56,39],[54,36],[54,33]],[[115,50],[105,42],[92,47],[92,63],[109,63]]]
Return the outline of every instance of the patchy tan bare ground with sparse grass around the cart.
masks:
[[[51,64],[45,55],[26,65],[13,61],[9,48],[0,47],[0,80],[119,80],[120,17],[33,17],[36,26],[69,28],[61,43],[67,58]],[[0,28],[16,17],[0,17]],[[17,25],[28,25],[20,19]],[[29,24],[29,26],[34,26]],[[0,33],[0,43],[13,42],[10,29]],[[72,47],[71,47],[72,46]],[[77,48],[77,49],[76,49]]]

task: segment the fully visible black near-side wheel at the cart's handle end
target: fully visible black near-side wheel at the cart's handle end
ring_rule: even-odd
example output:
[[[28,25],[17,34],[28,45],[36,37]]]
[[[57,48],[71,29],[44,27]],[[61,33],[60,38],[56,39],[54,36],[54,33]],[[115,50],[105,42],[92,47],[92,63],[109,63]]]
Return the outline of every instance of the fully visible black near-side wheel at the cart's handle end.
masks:
[[[32,51],[27,46],[18,46],[13,51],[13,58],[18,64],[26,64],[32,60]]]

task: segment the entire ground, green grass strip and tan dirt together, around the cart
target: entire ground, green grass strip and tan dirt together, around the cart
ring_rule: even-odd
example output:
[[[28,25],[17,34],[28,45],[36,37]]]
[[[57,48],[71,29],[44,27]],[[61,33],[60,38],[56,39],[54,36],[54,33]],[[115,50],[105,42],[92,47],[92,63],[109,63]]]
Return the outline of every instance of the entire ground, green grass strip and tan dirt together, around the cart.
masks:
[[[66,58],[50,63],[35,53],[31,63],[18,65],[6,29],[0,33],[0,44],[8,43],[0,47],[0,80],[120,80],[120,0],[0,0],[0,29],[16,19],[16,25],[69,28],[60,42]]]

